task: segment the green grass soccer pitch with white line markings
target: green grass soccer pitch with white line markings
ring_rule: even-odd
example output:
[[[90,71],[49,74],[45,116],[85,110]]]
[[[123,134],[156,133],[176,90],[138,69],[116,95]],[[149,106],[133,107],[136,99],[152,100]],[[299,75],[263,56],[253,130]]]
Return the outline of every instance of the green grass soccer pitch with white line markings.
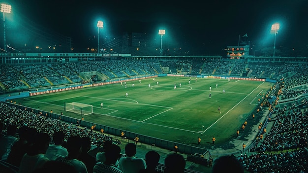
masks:
[[[234,138],[236,130],[258,105],[260,94],[266,93],[273,85],[269,82],[228,82],[226,79],[206,78],[197,81],[192,78],[188,84],[188,80],[189,77],[157,77],[155,81],[153,78],[143,79],[141,83],[129,81],[127,88],[124,83],[122,86],[117,83],[32,96],[16,102],[80,119],[80,114],[64,112],[63,103],[92,104],[93,114],[84,116],[85,121],[188,145],[197,145],[200,137],[201,147],[206,147],[213,136],[216,144]],[[212,91],[209,91],[210,86]],[[209,98],[210,93],[212,98]],[[103,108],[100,103],[103,103]]]

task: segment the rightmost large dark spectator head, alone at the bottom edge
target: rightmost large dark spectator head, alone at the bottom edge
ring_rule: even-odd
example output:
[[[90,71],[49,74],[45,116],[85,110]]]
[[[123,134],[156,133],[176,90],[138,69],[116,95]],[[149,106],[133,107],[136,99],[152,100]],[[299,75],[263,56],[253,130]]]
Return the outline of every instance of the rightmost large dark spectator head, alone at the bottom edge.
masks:
[[[214,160],[212,173],[244,173],[242,164],[232,156],[222,156]]]

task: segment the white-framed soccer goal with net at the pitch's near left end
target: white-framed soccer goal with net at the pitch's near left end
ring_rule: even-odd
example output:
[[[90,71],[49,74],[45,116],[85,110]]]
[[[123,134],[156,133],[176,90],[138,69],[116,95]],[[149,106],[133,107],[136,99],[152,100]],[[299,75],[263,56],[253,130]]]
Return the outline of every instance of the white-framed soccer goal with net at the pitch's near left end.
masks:
[[[80,113],[82,115],[89,115],[93,113],[93,106],[91,104],[81,104],[77,102],[64,102],[64,111]]]

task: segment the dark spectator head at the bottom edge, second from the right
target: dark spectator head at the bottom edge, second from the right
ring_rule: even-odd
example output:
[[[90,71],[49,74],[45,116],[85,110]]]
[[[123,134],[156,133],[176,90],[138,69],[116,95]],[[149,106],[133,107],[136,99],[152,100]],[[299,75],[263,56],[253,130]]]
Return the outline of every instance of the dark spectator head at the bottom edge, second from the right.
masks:
[[[169,154],[165,158],[165,173],[184,173],[186,162],[181,154]]]

